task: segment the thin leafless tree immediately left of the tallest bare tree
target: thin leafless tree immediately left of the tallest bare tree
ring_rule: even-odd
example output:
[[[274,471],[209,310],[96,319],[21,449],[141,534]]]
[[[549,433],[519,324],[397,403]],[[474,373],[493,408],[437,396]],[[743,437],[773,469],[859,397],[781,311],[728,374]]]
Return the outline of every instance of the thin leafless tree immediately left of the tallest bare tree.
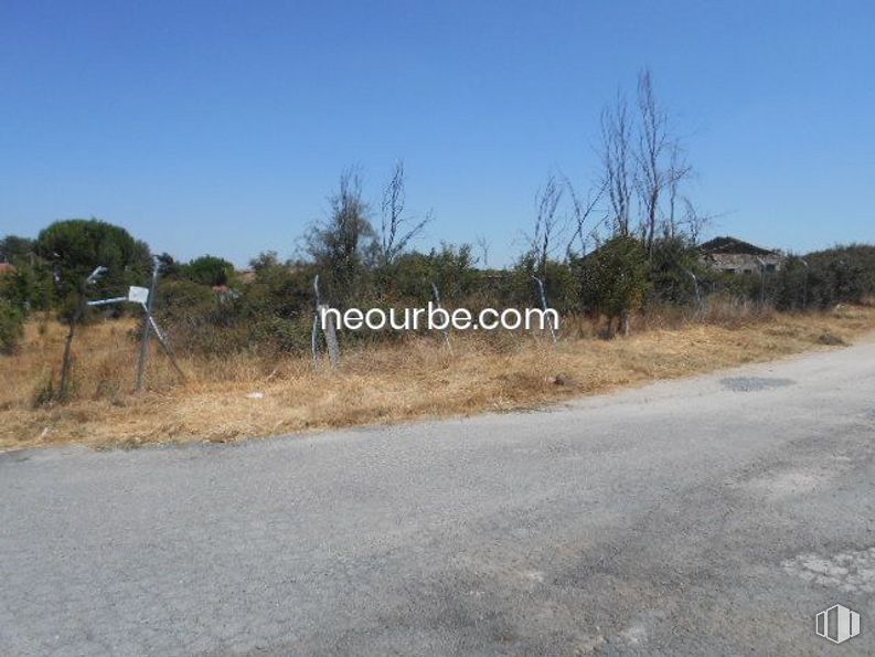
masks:
[[[608,192],[613,232],[629,234],[632,206],[632,127],[629,108],[622,94],[612,107],[601,110],[601,186]]]

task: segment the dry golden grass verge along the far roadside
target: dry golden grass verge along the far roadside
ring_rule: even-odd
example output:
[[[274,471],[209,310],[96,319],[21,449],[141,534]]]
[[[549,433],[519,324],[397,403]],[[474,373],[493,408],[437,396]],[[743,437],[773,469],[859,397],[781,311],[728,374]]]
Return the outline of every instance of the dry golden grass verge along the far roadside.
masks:
[[[185,359],[178,384],[162,354],[151,389],[131,394],[137,345],[130,321],[86,328],[75,347],[75,399],[34,406],[56,377],[64,328],[28,326],[19,354],[0,357],[0,449],[76,442],[95,447],[232,441],[302,430],[532,407],[654,379],[671,379],[850,342],[875,329],[875,309],[747,317],[729,325],[647,317],[627,339],[593,338],[585,321],[557,346],[533,336],[455,336],[346,354],[339,372],[306,358]],[[671,328],[658,328],[671,327]],[[249,399],[253,392],[262,399]]]

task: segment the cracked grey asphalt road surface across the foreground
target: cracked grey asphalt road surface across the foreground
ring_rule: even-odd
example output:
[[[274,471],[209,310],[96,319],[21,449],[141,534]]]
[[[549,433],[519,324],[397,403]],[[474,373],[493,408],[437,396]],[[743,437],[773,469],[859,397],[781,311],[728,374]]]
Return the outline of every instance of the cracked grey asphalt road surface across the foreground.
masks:
[[[875,655],[874,433],[864,343],[543,412],[8,453],[0,655]]]

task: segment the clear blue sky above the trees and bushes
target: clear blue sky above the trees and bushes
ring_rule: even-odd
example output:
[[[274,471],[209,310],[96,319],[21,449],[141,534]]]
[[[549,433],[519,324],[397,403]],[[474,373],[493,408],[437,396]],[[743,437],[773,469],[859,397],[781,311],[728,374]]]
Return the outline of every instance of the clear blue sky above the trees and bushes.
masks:
[[[875,4],[722,4],[3,0],[0,234],[97,216],[245,264],[402,157],[419,246],[483,234],[504,264],[649,66],[711,234],[875,242]]]

